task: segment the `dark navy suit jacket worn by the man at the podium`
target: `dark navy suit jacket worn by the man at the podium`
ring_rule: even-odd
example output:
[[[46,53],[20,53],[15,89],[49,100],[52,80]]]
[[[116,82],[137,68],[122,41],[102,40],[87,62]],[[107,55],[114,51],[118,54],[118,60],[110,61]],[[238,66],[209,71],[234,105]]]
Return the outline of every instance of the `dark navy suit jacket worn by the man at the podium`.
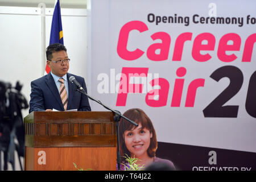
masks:
[[[79,111],[90,111],[88,97],[80,92],[77,92],[77,86],[69,81],[69,77],[74,76],[82,85],[87,93],[84,78],[71,73],[67,73],[68,78],[68,107],[67,110],[77,109]],[[31,82],[30,94],[30,110],[44,111],[46,109],[56,109],[64,111],[64,107],[60,98],[59,90],[53,80],[51,73]]]

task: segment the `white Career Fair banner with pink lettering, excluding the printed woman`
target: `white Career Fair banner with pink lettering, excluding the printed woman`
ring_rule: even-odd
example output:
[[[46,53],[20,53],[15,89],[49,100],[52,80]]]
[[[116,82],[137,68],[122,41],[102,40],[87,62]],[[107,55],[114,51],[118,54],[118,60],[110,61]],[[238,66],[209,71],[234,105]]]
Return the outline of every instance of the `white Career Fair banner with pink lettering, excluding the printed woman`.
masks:
[[[93,97],[121,113],[142,109],[156,131],[156,155],[179,169],[209,169],[199,164],[217,166],[222,155],[222,167],[255,170],[256,3],[91,3]],[[197,147],[204,155],[195,156]],[[248,155],[253,163],[237,160]]]

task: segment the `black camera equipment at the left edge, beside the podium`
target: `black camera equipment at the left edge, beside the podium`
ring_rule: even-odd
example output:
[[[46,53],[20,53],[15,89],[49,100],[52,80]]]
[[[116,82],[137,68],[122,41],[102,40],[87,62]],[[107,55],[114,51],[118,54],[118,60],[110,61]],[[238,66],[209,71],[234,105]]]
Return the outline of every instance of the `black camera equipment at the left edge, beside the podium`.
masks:
[[[0,154],[3,151],[4,165],[3,169],[7,170],[7,162],[10,162],[13,170],[14,152],[18,153],[20,168],[20,156],[24,157],[24,125],[22,109],[28,108],[26,98],[20,93],[22,85],[16,82],[15,88],[10,83],[0,81]],[[15,138],[18,144],[15,143]],[[0,171],[1,169],[0,155]]]

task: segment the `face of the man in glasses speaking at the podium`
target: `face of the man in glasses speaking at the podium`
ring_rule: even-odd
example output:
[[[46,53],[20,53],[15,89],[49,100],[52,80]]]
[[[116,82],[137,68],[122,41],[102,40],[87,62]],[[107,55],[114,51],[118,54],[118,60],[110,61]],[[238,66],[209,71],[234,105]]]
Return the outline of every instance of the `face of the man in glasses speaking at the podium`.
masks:
[[[66,51],[58,51],[52,53],[52,61],[68,59],[68,54]],[[47,60],[47,65],[51,68],[51,72],[59,77],[63,77],[67,74],[69,69],[69,62],[59,61],[60,63],[53,63],[52,61]]]

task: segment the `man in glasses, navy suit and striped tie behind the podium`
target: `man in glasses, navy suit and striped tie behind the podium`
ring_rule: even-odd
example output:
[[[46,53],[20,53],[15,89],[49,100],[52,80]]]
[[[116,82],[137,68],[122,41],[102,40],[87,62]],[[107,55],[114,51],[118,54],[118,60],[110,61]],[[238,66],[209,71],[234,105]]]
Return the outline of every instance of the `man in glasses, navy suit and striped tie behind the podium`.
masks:
[[[31,82],[29,112],[52,109],[90,111],[88,97],[77,92],[77,86],[69,81],[69,77],[74,76],[87,92],[84,78],[68,73],[70,59],[65,46],[51,44],[47,47],[46,58],[51,72]]]

